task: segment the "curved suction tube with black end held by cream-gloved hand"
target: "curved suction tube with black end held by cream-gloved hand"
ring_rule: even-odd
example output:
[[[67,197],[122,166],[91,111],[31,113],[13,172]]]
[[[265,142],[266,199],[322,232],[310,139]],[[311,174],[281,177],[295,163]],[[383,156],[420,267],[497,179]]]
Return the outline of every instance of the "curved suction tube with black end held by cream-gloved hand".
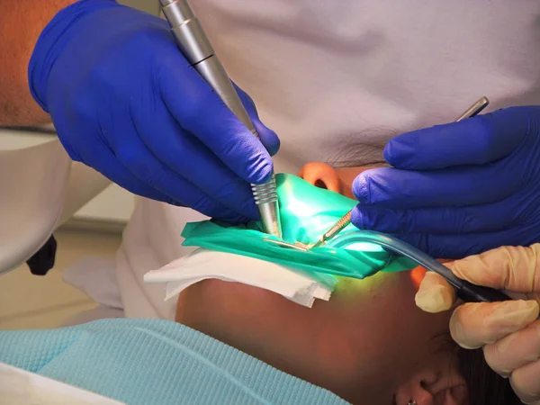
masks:
[[[398,238],[374,232],[373,230],[356,230],[338,235],[336,238],[329,240],[327,246],[347,248],[356,243],[365,242],[374,243],[392,253],[408,257],[420,266],[443,276],[455,288],[457,297],[464,302],[502,302],[511,300],[508,295],[498,290],[475,285],[456,277],[449,268],[441,265],[433,257],[429,257],[418,248],[412,247]]]

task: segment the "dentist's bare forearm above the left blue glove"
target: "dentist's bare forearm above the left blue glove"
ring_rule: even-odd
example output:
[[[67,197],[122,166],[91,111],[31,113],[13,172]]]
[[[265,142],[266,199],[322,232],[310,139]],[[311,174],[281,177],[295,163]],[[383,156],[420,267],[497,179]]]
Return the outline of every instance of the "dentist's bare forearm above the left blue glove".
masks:
[[[28,85],[28,62],[40,32],[61,9],[76,0],[0,1],[0,125],[50,121]]]

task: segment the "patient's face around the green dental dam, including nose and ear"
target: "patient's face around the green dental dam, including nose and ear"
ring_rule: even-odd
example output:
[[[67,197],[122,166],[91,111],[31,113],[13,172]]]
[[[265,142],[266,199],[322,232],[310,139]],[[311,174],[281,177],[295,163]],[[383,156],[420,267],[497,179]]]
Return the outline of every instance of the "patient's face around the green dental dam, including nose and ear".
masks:
[[[329,167],[304,166],[300,175],[315,184],[317,170]],[[350,195],[360,171],[332,170],[338,178],[318,185]],[[342,279],[329,302],[311,309],[256,287],[206,280],[182,293],[176,319],[347,401],[465,403],[450,313],[417,308],[419,272]]]

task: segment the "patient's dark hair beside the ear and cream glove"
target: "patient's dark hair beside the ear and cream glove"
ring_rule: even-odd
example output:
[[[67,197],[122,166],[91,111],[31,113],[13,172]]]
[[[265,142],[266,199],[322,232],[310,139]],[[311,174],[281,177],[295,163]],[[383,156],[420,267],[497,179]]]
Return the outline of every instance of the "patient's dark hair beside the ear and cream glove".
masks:
[[[486,363],[482,349],[457,349],[459,369],[467,382],[470,405],[522,405],[510,386]]]

